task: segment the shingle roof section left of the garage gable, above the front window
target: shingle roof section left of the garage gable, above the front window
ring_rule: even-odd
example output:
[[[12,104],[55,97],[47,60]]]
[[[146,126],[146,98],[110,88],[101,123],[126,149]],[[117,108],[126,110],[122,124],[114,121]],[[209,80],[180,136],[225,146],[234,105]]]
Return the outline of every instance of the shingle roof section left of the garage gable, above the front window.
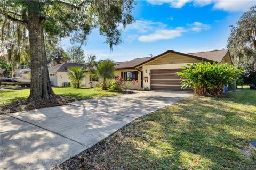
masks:
[[[150,58],[153,58],[153,57],[135,58],[135,59],[127,61],[127,62],[117,62],[116,69],[134,68],[135,66],[148,61]]]

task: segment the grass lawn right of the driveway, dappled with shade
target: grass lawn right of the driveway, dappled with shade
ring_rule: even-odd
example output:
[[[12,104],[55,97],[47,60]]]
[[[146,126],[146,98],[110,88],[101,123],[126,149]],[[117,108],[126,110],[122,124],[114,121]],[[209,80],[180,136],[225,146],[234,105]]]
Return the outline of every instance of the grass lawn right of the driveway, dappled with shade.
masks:
[[[239,152],[251,141],[256,90],[238,90],[223,98],[187,98],[143,116],[60,167],[255,169],[255,155]]]

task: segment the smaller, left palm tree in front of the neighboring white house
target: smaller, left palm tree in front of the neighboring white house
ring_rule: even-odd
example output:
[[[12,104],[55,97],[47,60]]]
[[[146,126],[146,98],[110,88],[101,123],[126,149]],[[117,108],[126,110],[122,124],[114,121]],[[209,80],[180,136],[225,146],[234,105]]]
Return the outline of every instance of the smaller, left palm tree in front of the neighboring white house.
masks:
[[[80,82],[85,77],[85,69],[83,67],[70,67],[68,69],[68,75],[71,80],[76,81],[76,88],[80,88]]]

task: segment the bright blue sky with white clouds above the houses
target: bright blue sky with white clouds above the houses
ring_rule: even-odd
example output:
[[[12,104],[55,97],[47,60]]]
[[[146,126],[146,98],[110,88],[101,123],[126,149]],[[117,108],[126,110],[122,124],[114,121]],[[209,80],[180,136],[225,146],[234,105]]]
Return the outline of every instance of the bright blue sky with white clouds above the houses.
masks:
[[[136,22],[123,30],[122,43],[114,46],[113,52],[97,29],[82,49],[85,54],[96,54],[97,60],[115,61],[156,56],[169,49],[183,53],[223,49],[230,34],[229,25],[235,25],[252,5],[256,0],[137,1],[133,10]],[[64,49],[71,46],[68,39],[61,44]]]

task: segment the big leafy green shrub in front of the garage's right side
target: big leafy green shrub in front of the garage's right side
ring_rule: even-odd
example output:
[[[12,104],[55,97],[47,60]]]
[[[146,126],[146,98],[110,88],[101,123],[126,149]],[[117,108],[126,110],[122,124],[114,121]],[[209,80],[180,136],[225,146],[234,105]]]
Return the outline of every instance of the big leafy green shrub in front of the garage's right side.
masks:
[[[243,73],[227,63],[203,62],[180,67],[183,70],[176,74],[185,78],[181,88],[192,88],[198,96],[220,96],[223,87],[239,80]]]

